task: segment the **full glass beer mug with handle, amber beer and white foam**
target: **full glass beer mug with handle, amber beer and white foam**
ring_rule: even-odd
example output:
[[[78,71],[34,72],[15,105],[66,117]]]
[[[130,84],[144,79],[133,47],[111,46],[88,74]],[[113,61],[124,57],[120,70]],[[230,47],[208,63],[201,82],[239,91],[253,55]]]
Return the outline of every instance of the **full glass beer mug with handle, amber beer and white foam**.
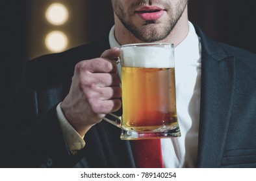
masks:
[[[123,45],[118,64],[122,69],[122,115],[110,113],[104,120],[122,129],[122,140],[181,136],[173,44]]]

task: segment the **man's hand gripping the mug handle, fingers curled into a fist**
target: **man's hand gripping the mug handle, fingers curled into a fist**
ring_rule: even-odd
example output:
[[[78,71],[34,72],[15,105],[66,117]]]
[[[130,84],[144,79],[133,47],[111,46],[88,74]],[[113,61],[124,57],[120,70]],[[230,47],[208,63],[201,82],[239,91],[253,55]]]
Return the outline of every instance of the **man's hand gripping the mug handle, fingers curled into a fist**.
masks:
[[[114,61],[107,59],[118,56],[120,48],[111,48],[105,50],[100,58],[80,61],[75,66],[70,92],[61,108],[81,136],[122,105],[118,69]]]

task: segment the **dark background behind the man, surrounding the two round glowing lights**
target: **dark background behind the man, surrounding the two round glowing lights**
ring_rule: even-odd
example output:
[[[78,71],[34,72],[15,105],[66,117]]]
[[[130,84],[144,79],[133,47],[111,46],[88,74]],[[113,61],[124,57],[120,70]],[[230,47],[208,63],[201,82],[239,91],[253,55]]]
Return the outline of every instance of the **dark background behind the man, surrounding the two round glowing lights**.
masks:
[[[32,51],[29,48],[31,30],[33,26],[40,25],[40,23],[36,25],[31,23],[31,17],[34,16],[31,11],[36,2],[42,3],[42,1],[4,0],[0,2],[0,109],[3,112],[6,109],[5,103],[8,103],[8,96],[11,90],[14,90],[14,85],[19,78],[21,64],[31,58],[29,57]],[[85,2],[84,7],[82,6],[83,10],[79,14],[79,16],[83,16],[83,20],[77,19],[80,27],[72,27],[73,31],[79,28],[85,33],[81,32],[83,38],[73,45],[94,41],[107,33],[113,24],[110,1],[66,0],[58,2],[64,2],[70,8],[77,3]],[[190,0],[189,19],[203,28],[212,39],[256,53],[254,2],[255,0]],[[77,14],[77,12],[70,13],[71,15]],[[77,33],[76,35],[80,36]],[[36,39],[34,42],[36,43]],[[40,56],[40,53],[37,55]]]

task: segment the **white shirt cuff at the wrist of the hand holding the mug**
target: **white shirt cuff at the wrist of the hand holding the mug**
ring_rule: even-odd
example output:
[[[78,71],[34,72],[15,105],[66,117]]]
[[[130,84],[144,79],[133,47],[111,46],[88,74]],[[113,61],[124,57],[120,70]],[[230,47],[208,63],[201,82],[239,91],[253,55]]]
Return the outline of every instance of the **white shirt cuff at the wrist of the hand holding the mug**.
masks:
[[[56,109],[58,122],[60,123],[60,128],[62,130],[64,140],[66,141],[68,148],[70,149],[71,153],[75,154],[77,153],[77,151],[84,148],[85,142],[83,138],[77,133],[77,131],[73,129],[73,127],[64,116],[60,104],[61,103],[58,104]]]

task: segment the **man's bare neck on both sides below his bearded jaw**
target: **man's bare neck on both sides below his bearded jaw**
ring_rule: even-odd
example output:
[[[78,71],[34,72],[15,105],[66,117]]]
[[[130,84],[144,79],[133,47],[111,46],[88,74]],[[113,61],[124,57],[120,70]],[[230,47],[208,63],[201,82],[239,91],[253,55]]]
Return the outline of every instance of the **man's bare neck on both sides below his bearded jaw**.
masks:
[[[131,34],[122,24],[122,22],[114,15],[114,21],[115,21],[115,37],[118,43],[120,45],[125,45],[129,43],[144,43],[137,39],[136,37]],[[162,43],[173,43],[175,47],[185,39],[186,35],[188,34],[189,30],[189,25],[188,25],[188,11],[187,11],[187,6],[173,28],[172,32],[162,41]]]

